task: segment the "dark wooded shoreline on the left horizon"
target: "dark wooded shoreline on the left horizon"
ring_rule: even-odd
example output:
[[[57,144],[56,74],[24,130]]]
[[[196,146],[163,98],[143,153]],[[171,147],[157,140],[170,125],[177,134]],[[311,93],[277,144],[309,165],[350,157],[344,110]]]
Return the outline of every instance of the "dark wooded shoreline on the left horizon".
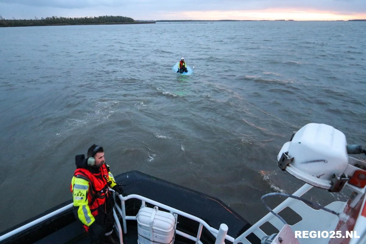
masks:
[[[101,24],[118,24],[118,23],[134,23],[134,19],[124,16],[98,16],[98,17],[81,17],[81,18],[65,18],[65,17],[46,17],[38,19],[4,19],[0,18],[0,27],[15,26],[48,26],[48,25],[101,25]]]

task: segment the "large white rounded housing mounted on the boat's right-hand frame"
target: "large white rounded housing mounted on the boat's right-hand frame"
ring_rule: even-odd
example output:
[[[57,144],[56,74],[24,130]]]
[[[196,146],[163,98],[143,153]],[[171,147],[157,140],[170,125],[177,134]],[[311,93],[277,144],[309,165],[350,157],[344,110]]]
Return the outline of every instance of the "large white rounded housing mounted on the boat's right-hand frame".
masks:
[[[316,187],[329,189],[333,174],[340,176],[348,165],[346,136],[326,124],[307,124],[286,142],[282,153],[288,152],[294,160],[286,171]]]

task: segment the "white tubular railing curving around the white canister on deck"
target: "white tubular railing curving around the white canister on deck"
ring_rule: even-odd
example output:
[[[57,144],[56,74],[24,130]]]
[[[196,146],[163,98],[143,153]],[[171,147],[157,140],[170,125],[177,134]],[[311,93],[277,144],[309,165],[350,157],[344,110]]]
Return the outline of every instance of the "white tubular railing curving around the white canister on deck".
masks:
[[[207,224],[205,221],[203,221],[202,219],[200,219],[200,218],[198,218],[198,217],[196,217],[196,216],[194,216],[194,215],[191,215],[191,214],[188,214],[188,213],[185,213],[185,212],[183,212],[183,211],[180,211],[180,210],[178,210],[178,209],[175,209],[175,208],[173,208],[173,207],[169,207],[169,206],[167,206],[167,205],[165,205],[165,204],[162,204],[162,203],[159,203],[159,202],[156,202],[156,201],[154,201],[154,200],[152,200],[152,199],[149,199],[149,198],[145,198],[145,197],[143,197],[143,196],[140,196],[140,195],[136,195],[136,194],[131,194],[131,195],[128,195],[128,196],[122,196],[122,195],[119,195],[119,199],[121,200],[121,205],[122,205],[122,209],[121,209],[121,211],[122,211],[122,213],[126,213],[125,211],[125,209],[124,209],[124,207],[125,207],[125,201],[126,200],[129,200],[129,199],[139,199],[139,200],[141,200],[142,201],[142,203],[144,203],[144,202],[148,202],[148,203],[150,203],[150,204],[153,204],[153,205],[155,205],[155,206],[158,206],[158,207],[161,207],[161,208],[163,208],[163,209],[166,209],[166,210],[168,210],[168,211],[171,211],[171,212],[173,212],[173,213],[176,213],[176,214],[178,214],[178,215],[181,215],[181,216],[183,216],[183,217],[186,217],[186,218],[189,218],[189,219],[191,219],[191,220],[193,220],[193,221],[196,221],[196,222],[198,222],[200,225],[202,224],[202,226],[205,226],[205,228],[206,229],[208,229],[209,230],[209,232],[215,237],[215,238],[217,238],[217,236],[219,235],[219,236],[221,236],[221,233],[223,233],[224,232],[224,229],[221,229],[221,226],[220,226],[220,229],[219,230],[217,230],[217,229],[215,229],[215,228],[213,228],[213,227],[211,227],[209,224]],[[118,210],[118,209],[117,209]],[[120,210],[118,210],[119,212],[120,212]],[[121,213],[120,213],[121,214]],[[126,226],[126,219],[133,219],[133,220],[136,220],[136,216],[126,216],[125,214],[124,214],[124,216],[123,216],[123,214],[122,214],[122,219],[123,219],[123,229],[124,229],[124,231],[125,231],[125,233],[127,233],[127,228],[125,228],[125,226]],[[179,234],[180,236],[183,236],[183,237],[186,237],[186,238],[188,238],[188,239],[190,239],[190,240],[193,240],[193,241],[196,241],[196,243],[201,243],[201,241],[199,240],[199,238],[201,237],[201,234],[200,234],[200,232],[202,232],[202,228],[200,229],[200,227],[198,228],[198,232],[197,232],[197,236],[191,236],[191,235],[188,235],[188,234],[186,234],[186,233],[183,233],[183,232],[180,232],[180,231],[176,231],[176,233],[177,234]],[[220,234],[219,234],[220,233]],[[189,236],[189,237],[188,237]],[[231,241],[231,242],[234,242],[234,237],[231,237],[231,236],[229,236],[229,235],[227,235],[226,233],[225,233],[225,239],[226,240],[228,240],[228,241]]]

